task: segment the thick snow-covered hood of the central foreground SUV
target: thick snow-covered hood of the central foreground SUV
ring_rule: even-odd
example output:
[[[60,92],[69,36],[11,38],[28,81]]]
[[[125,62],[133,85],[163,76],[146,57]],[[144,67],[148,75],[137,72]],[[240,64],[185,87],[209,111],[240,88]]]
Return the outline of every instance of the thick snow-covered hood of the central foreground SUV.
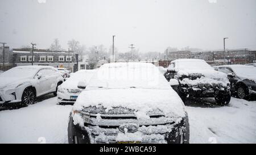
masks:
[[[172,118],[185,116],[184,104],[171,89],[101,89],[85,90],[79,95],[73,110],[86,107],[104,107],[106,113],[115,107],[131,110],[137,118],[149,118],[154,111]],[[129,112],[131,112],[129,111]],[[101,113],[105,113],[101,112]],[[120,114],[115,111],[115,114]],[[126,112],[123,112],[123,114]],[[158,113],[159,114],[159,113]]]

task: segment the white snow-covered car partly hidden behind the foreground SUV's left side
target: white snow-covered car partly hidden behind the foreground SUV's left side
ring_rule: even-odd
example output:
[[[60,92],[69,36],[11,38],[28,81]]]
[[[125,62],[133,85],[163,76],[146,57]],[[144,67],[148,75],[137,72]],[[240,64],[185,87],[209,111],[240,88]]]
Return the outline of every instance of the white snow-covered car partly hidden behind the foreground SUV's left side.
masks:
[[[63,82],[57,90],[58,103],[63,104],[74,104],[78,95],[82,89],[77,87],[80,81],[90,81],[96,70],[79,70],[76,73],[71,73],[71,77],[67,81]]]

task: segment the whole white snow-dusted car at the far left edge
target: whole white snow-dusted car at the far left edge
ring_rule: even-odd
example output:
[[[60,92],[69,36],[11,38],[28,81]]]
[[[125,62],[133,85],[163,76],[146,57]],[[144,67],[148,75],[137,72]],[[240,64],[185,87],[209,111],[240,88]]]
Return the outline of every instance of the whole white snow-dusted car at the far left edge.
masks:
[[[51,66],[17,66],[0,74],[0,104],[33,104],[41,95],[56,95],[62,82],[61,74]]]

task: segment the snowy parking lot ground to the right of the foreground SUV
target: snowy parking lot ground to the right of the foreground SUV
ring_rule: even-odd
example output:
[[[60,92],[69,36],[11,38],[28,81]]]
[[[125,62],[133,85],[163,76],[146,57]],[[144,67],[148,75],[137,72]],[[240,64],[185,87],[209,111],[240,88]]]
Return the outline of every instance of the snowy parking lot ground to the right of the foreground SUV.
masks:
[[[213,100],[186,103],[190,143],[256,143],[256,101],[232,98],[220,107]]]

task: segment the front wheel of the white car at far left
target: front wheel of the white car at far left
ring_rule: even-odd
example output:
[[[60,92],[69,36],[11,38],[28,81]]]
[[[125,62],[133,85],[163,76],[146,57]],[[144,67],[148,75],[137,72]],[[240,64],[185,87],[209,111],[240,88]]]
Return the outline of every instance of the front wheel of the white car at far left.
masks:
[[[30,104],[34,104],[35,99],[36,99],[36,96],[32,89],[26,88],[23,91],[23,94],[22,94],[22,105],[23,106],[28,106]]]

